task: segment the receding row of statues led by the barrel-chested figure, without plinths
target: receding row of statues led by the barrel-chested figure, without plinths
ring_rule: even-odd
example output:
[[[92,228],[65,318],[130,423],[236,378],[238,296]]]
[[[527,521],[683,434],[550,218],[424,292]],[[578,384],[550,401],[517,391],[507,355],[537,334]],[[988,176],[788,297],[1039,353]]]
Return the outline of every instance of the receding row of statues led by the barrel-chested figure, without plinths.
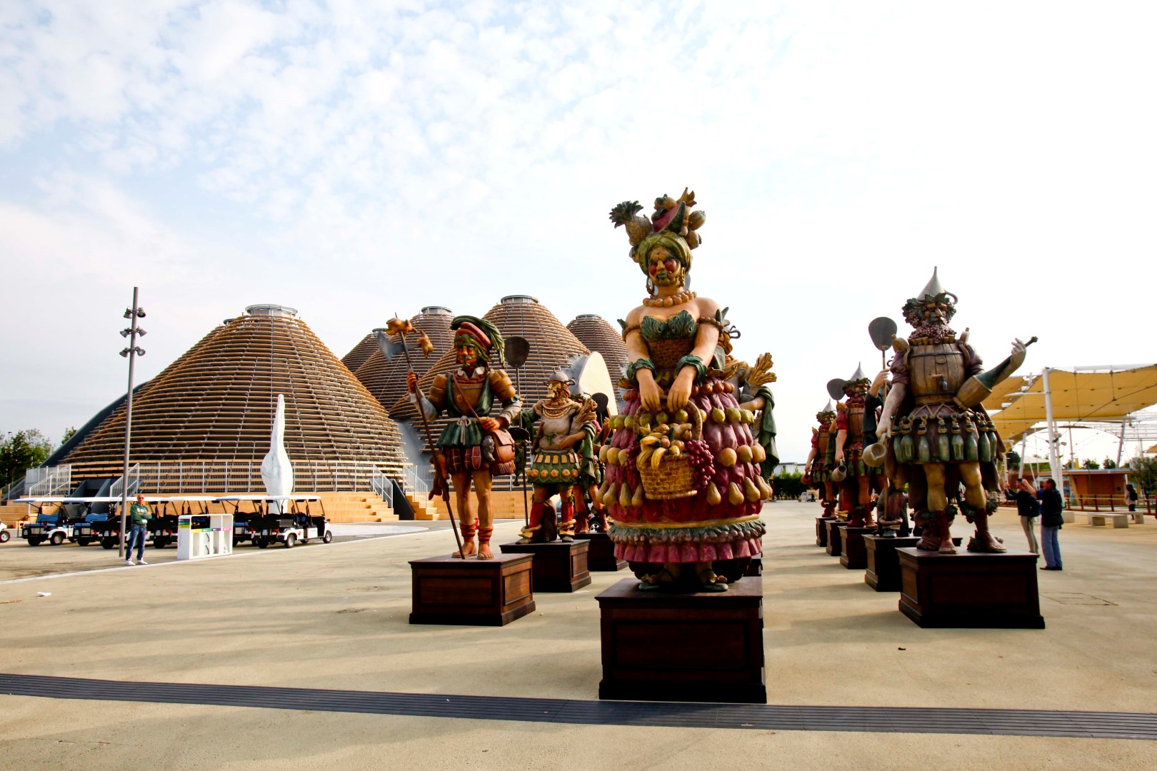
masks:
[[[967,549],[1000,553],[1005,548],[988,517],[1004,445],[981,402],[1020,366],[1036,339],[1015,340],[1011,355],[986,371],[968,332],[958,336],[949,326],[956,304],[935,272],[905,303],[913,332],[893,335],[891,364],[870,383],[857,369],[841,381],[846,401],[816,415],[806,481],[823,497],[825,516],[852,526],[871,526],[875,496],[884,534],[906,528],[911,507],[916,548],[953,554],[951,524],[963,513],[975,526]]]

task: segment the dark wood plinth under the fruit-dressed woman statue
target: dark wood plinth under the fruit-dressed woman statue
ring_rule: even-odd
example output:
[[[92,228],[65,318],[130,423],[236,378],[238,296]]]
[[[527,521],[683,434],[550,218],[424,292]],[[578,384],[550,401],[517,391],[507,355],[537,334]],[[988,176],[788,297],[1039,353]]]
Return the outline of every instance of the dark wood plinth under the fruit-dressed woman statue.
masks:
[[[599,698],[767,703],[760,579],[697,594],[640,592],[639,581],[624,579],[596,599]]]

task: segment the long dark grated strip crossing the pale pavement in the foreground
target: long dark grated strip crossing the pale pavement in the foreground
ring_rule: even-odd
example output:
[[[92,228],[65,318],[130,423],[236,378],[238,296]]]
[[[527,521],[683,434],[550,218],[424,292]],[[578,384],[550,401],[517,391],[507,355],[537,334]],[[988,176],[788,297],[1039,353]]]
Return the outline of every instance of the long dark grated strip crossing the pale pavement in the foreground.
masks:
[[[1145,712],[582,702],[312,688],[140,683],[8,674],[0,674],[0,694],[104,702],[208,704],[590,726],[1157,740],[1157,714]]]

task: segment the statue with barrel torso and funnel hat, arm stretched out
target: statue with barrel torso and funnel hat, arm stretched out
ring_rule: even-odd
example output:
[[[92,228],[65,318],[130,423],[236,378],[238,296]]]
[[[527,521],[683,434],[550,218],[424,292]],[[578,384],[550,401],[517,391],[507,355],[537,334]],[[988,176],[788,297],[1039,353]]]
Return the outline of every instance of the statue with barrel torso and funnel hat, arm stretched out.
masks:
[[[1026,344],[1036,339],[1014,341],[1012,354],[983,371],[967,331],[957,338],[948,326],[956,304],[935,272],[905,303],[913,333],[894,342],[892,388],[877,433],[886,447],[890,495],[907,485],[908,504],[923,527],[918,548],[953,554],[951,522],[963,511],[977,526],[968,550],[1000,553],[1004,546],[989,532],[988,516],[996,511],[996,467],[1004,446],[980,402],[1020,366]]]

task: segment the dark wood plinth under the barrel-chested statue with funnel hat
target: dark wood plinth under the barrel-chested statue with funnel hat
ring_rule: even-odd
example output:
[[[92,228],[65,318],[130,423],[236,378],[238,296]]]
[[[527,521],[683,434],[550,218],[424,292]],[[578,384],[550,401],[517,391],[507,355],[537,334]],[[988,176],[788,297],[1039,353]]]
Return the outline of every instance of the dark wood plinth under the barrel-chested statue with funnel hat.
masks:
[[[900,611],[926,628],[1044,629],[1037,555],[896,550]]]

